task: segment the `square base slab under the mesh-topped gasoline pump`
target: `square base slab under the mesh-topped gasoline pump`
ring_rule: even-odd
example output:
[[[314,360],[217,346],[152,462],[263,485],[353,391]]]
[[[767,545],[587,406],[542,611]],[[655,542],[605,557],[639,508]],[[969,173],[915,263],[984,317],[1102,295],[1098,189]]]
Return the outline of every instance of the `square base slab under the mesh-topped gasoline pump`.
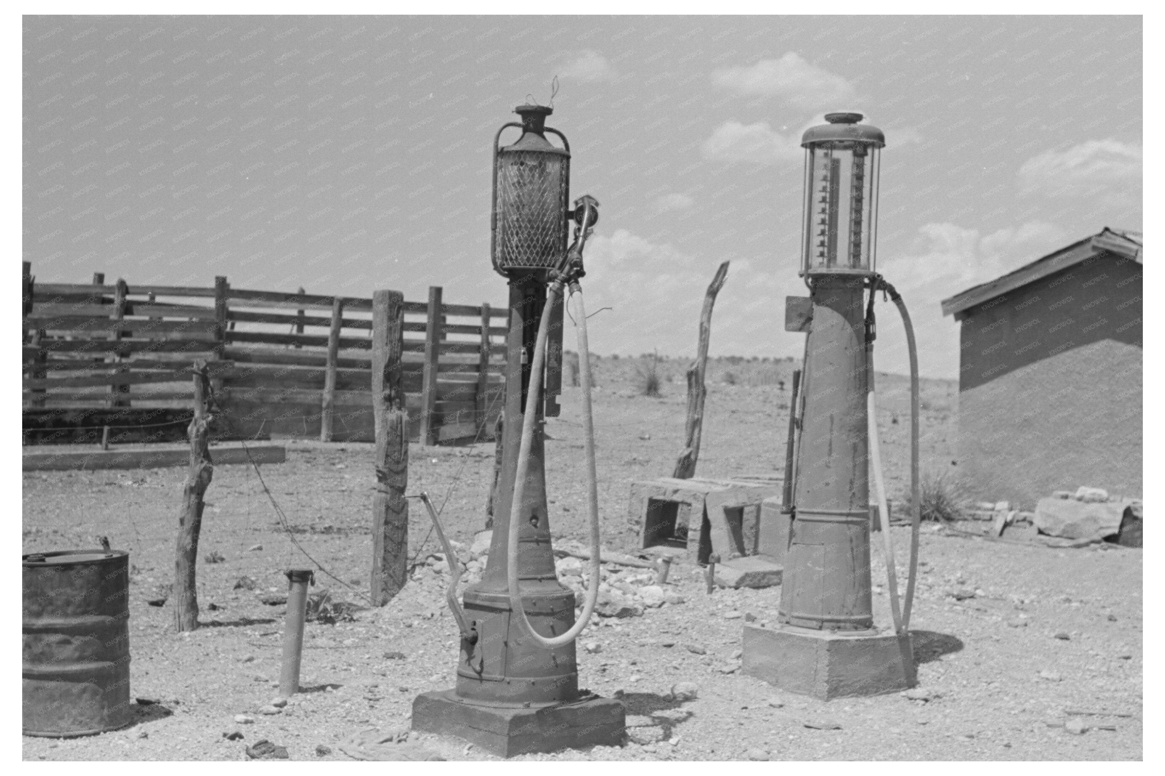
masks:
[[[613,698],[588,696],[572,704],[523,708],[460,700],[453,690],[425,692],[412,701],[412,729],[456,735],[501,757],[623,742],[626,711]]]

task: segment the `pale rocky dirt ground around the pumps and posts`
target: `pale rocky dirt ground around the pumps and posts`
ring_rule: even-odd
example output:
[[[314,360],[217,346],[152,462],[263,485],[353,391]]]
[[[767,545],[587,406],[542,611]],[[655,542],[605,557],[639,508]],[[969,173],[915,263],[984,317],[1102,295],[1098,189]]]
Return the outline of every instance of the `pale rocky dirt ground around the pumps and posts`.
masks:
[[[668,475],[682,446],[683,364],[661,365],[663,396],[637,395],[642,361],[602,359],[595,417],[605,544],[633,548],[629,485]],[[699,475],[764,474],[783,466],[791,362],[714,362]],[[729,374],[730,373],[730,374]],[[670,376],[670,381],[669,378]],[[785,390],[778,386],[785,380]],[[880,378],[880,425],[890,496],[909,485],[906,382]],[[956,473],[956,389],[924,381],[924,467]],[[548,422],[548,487],[556,541],[585,536],[579,390]],[[895,422],[898,421],[898,422]],[[409,492],[428,491],[452,538],[483,527],[494,445],[414,445]],[[372,555],[370,445],[288,442],[288,461],[262,479],[292,536],[339,580],[319,587],[362,604]],[[309,623],[304,691],[282,710],[275,696],[285,592],[282,570],[311,567],[282,528],[249,466],[219,466],[207,492],[199,550],[202,627],[172,632],[169,605],[147,600],[168,585],[184,471],[27,472],[23,551],[92,546],[107,535],[130,552],[133,726],[80,739],[24,738],[26,760],[240,760],[267,739],[292,760],[347,760],[354,733],[409,726],[412,698],[452,686],[457,628],[443,604],[444,564],[414,502],[410,584],[352,622]],[[980,494],[989,499],[991,494]],[[904,557],[909,531],[895,528]],[[223,557],[205,563],[211,552]],[[1139,760],[1142,757],[1142,552],[1114,545],[1051,549],[987,542],[938,527],[923,531],[912,630],[916,698],[890,694],[828,703],[779,692],[739,670],[741,625],[775,621],[779,587],[716,590],[700,571],[672,567],[672,604],[640,616],[599,618],[580,640],[584,686],[621,696],[642,728],[623,747],[525,760]],[[874,550],[875,618],[890,622],[885,569]],[[428,560],[428,563],[426,563]],[[643,585],[641,570],[607,566],[607,583]],[[250,577],[254,590],[235,588]],[[318,590],[318,588],[317,588]],[[682,602],[678,599],[683,599]],[[677,683],[694,699],[669,698]],[[238,721],[253,720],[253,721]],[[241,738],[228,734],[239,733]],[[465,742],[414,740],[449,760],[489,760]]]

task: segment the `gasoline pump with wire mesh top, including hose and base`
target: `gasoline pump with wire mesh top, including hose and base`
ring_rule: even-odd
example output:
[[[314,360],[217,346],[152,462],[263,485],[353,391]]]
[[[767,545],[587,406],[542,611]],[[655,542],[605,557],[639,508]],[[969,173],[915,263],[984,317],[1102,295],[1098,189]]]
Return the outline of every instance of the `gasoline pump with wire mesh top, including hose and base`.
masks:
[[[492,252],[494,269],[509,281],[509,338],[493,539],[481,581],[465,591],[464,611],[450,597],[461,627],[457,686],[423,693],[412,704],[414,729],[456,735],[506,757],[616,746],[624,724],[620,701],[579,691],[574,650],[599,586],[589,362],[578,283],[599,203],[584,196],[567,210],[570,144],[563,133],[545,126],[551,108],[521,105],[515,113],[522,122],[506,124],[494,136]],[[522,135],[499,147],[507,127],[521,127]],[[548,132],[563,146],[552,144]],[[571,220],[577,226],[567,249]],[[543,458],[543,366],[564,288],[570,289],[578,327],[593,544],[589,590],[578,622],[574,593],[555,573]],[[560,359],[560,348],[552,355]]]

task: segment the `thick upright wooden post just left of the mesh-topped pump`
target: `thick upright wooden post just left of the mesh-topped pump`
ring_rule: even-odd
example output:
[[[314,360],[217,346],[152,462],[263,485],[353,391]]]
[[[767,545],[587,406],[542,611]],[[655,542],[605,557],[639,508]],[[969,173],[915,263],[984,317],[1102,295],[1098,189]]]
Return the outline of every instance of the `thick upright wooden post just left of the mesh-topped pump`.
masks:
[[[404,587],[409,573],[409,502],[404,499],[409,481],[409,430],[401,380],[404,296],[400,291],[374,291],[372,322],[376,492],[373,496],[369,587],[373,601],[383,606]]]

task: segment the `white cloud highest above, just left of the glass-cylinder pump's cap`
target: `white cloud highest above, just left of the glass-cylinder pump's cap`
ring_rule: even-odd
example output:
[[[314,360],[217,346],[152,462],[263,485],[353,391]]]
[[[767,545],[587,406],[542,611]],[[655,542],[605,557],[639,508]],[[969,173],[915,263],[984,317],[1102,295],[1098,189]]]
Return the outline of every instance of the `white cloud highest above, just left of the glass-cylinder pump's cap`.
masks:
[[[725,68],[712,82],[744,97],[778,97],[802,108],[832,108],[853,97],[853,85],[790,51],[779,59],[761,59],[747,68]]]

